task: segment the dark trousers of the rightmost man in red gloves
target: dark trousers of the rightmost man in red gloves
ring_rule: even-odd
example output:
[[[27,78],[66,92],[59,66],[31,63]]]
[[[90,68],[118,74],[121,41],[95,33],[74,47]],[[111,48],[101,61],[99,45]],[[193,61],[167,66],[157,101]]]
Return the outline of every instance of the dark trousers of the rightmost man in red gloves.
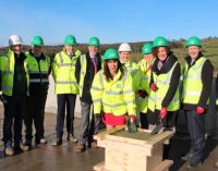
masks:
[[[205,113],[197,114],[195,110],[186,110],[187,129],[191,136],[191,149],[193,162],[197,163],[202,160],[205,147]]]

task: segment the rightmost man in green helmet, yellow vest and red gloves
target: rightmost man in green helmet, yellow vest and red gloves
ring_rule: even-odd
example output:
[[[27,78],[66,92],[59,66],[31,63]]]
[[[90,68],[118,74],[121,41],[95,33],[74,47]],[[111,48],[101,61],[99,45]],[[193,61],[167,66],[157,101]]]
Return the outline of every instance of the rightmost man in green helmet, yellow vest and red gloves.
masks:
[[[189,56],[185,58],[182,107],[187,118],[187,129],[191,136],[191,148],[182,158],[189,161],[187,168],[197,168],[204,156],[205,147],[205,114],[208,109],[213,81],[213,64],[202,51],[198,37],[186,40]]]

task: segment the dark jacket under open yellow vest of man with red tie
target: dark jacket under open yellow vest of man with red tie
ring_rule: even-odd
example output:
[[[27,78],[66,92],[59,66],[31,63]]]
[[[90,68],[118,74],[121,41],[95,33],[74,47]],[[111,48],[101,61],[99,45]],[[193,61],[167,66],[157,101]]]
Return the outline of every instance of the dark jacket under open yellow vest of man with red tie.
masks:
[[[101,57],[99,53],[97,53],[96,58],[97,58],[97,71],[99,71],[101,70]],[[86,73],[84,77],[84,84],[83,84],[84,85],[83,95],[81,97],[81,100],[87,103],[92,103],[93,100],[90,97],[90,87],[93,84],[95,72],[94,72],[94,65],[88,52],[86,53],[86,61],[87,61],[87,65],[86,65]],[[81,72],[81,59],[78,58],[75,65],[75,78],[76,78],[77,84],[80,83],[80,72]]]

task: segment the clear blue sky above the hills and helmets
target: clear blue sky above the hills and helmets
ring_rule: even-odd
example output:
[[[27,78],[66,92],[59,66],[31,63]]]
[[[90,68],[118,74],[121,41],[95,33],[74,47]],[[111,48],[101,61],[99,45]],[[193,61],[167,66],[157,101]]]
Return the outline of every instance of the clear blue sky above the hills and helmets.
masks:
[[[217,0],[1,0],[0,46],[10,35],[25,45],[39,35],[61,45],[66,35],[78,44],[97,36],[101,44],[218,36]]]

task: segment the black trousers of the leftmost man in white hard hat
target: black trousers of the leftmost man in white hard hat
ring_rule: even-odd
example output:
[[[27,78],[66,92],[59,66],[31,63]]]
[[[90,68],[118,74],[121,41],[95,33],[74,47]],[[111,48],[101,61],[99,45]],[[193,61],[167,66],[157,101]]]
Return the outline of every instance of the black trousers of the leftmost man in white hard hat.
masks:
[[[14,139],[14,146],[19,146],[22,141],[22,122],[25,113],[26,95],[3,95],[3,98],[5,100],[3,119],[4,147],[12,147],[12,139]]]

